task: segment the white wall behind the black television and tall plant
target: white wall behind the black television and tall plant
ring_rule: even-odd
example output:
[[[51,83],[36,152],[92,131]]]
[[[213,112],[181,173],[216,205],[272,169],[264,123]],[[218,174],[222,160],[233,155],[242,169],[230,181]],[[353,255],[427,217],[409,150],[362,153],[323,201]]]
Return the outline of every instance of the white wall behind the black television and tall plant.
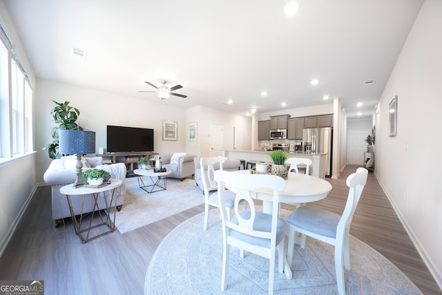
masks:
[[[95,91],[46,79],[37,80],[37,108],[35,117],[39,122],[37,129],[37,168],[39,181],[50,164],[50,158],[41,148],[50,142],[53,122],[50,110],[52,102],[70,102],[70,106],[80,111],[77,122],[84,129],[95,131],[96,153],[103,146],[106,151],[106,125],[131,126],[154,129],[154,150],[157,153],[186,151],[186,112],[182,108],[164,106],[143,99]],[[162,140],[162,122],[177,122],[177,141]]]

